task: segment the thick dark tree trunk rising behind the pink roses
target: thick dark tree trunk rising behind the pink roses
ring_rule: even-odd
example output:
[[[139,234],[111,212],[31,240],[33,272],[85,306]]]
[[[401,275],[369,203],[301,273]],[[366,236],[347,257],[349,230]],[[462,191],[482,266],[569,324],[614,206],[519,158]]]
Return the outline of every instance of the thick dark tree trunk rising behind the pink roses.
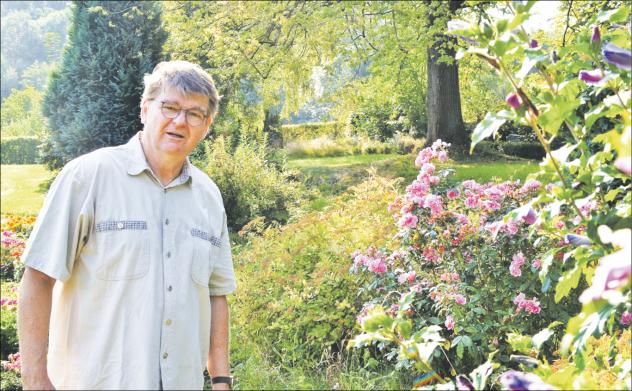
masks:
[[[462,1],[450,1],[449,8],[443,3],[437,12],[454,14]],[[430,13],[431,22],[435,16]],[[446,35],[436,35],[434,43],[428,48],[428,132],[426,143],[437,139],[464,146],[468,143],[463,116],[461,114],[461,93],[459,90],[459,67],[454,59],[455,51],[446,47],[446,43],[454,40]],[[439,63],[439,58],[447,55],[452,64]]]

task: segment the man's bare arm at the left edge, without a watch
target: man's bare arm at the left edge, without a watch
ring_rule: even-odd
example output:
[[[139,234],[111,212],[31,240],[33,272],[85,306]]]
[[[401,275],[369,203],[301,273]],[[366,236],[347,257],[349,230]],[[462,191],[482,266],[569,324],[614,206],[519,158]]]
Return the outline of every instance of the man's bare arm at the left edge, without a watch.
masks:
[[[46,355],[55,279],[26,267],[18,298],[18,336],[25,390],[54,390],[48,378]]]

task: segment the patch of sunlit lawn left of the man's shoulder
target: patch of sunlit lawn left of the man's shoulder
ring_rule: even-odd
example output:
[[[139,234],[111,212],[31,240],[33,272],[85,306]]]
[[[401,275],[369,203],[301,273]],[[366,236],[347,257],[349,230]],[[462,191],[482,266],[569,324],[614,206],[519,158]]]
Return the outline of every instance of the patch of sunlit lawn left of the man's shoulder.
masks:
[[[45,194],[40,185],[52,175],[42,164],[1,165],[2,213],[37,214]]]

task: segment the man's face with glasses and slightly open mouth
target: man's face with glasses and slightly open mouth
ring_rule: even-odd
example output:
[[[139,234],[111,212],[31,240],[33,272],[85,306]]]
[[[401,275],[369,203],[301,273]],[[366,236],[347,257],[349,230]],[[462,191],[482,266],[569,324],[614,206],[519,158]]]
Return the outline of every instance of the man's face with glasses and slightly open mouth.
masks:
[[[165,107],[166,110],[163,110]],[[167,118],[164,112],[176,113],[175,118]],[[189,113],[189,121],[185,110]],[[197,113],[196,113],[197,112]],[[171,157],[175,159],[186,158],[202,141],[213,119],[208,116],[197,126],[189,124],[191,117],[196,114],[208,113],[208,98],[203,95],[182,95],[173,88],[167,88],[156,98],[143,102],[141,107],[141,120],[145,125],[143,138],[146,138],[145,153],[155,158]]]

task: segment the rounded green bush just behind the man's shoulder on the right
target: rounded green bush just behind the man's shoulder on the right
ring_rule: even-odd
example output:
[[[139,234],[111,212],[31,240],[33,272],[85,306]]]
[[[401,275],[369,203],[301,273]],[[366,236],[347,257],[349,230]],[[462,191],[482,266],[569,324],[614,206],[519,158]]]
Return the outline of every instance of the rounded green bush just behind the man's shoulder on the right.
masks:
[[[220,136],[205,148],[202,169],[222,192],[230,229],[239,230],[260,216],[267,222],[287,221],[290,207],[300,199],[299,185],[267,160],[265,143],[242,139],[231,152]]]

